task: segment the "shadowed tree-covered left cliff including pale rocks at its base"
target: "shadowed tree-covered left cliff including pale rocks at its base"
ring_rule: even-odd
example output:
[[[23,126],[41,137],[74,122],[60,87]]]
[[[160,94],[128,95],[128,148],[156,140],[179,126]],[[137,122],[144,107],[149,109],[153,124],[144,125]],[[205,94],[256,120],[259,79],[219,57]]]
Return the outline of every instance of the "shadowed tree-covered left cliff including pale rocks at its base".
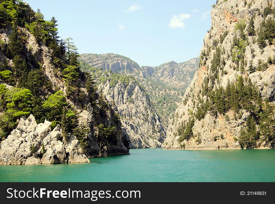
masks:
[[[27,4],[22,9],[26,20],[29,12],[35,15],[30,24],[40,18],[39,23],[55,26]],[[34,36],[38,31],[11,24],[0,25],[1,164],[89,162],[88,157],[129,154],[117,107],[105,97],[99,98],[89,76],[79,70],[78,61],[68,59],[61,41],[48,30],[43,31],[47,40],[41,35],[39,41]],[[46,120],[37,125],[32,115]]]

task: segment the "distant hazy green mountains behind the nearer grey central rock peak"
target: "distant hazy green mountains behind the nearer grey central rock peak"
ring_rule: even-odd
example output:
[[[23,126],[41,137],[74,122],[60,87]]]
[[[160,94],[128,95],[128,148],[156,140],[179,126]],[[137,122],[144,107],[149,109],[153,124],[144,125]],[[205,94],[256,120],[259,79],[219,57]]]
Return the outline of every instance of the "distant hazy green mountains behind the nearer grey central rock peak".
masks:
[[[197,57],[187,62],[167,62],[158,67],[139,67],[130,58],[117,54],[82,54],[81,56],[80,61],[95,68],[108,71],[110,67],[115,67],[111,69],[112,72],[134,76],[150,97],[165,129],[199,64]]]

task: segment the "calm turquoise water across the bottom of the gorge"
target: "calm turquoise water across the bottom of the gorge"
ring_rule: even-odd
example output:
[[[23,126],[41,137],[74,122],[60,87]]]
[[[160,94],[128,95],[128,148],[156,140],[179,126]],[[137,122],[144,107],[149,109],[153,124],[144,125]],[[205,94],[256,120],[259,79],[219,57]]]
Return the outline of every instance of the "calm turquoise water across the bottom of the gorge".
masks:
[[[132,149],[86,164],[0,166],[0,182],[275,182],[275,150]]]

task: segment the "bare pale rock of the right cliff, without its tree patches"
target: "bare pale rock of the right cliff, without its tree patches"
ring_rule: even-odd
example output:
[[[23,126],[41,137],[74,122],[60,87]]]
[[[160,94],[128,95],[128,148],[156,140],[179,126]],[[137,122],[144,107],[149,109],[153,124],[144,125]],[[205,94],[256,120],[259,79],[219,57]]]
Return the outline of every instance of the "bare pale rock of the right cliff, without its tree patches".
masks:
[[[183,121],[188,121],[194,113],[197,112],[197,105],[200,98],[206,99],[205,95],[197,97],[202,92],[202,85],[204,79],[211,77],[212,60],[215,57],[215,47],[221,48],[221,60],[225,60],[223,72],[218,71],[218,79],[213,82],[213,90],[219,85],[226,87],[228,80],[231,82],[236,81],[238,76],[249,77],[253,83],[258,87],[262,99],[268,98],[273,100],[274,95],[274,65],[269,65],[265,71],[255,71],[251,73],[249,69],[258,66],[259,60],[267,62],[269,56],[274,55],[274,45],[267,45],[263,50],[259,48],[256,42],[258,37],[257,31],[260,28],[261,22],[264,20],[262,14],[264,8],[274,5],[275,1],[218,1],[218,4],[211,11],[212,27],[204,38],[204,44],[201,53],[207,53],[201,57],[201,65],[199,70],[195,73],[194,78],[187,88],[183,102],[178,106],[175,117],[173,117],[168,126],[167,137],[163,143],[163,147],[168,149],[217,149],[217,148],[240,148],[236,138],[240,136],[241,128],[246,127],[246,120],[249,113],[242,110],[242,115],[236,119],[234,113],[229,111],[226,113],[228,117],[222,114],[217,114],[214,117],[207,112],[205,117],[201,120],[195,120],[192,127],[193,136],[188,141],[178,142],[179,135],[177,129]],[[268,14],[266,18],[273,17]],[[254,19],[254,27],[256,36],[248,36],[247,28],[248,21]],[[232,43],[236,36],[240,36],[240,31],[236,28],[237,23],[242,24],[246,22],[244,33],[247,35],[247,42],[245,50],[243,50],[244,70],[236,69],[236,60],[230,55],[232,53]],[[228,34],[225,34],[227,33]],[[224,39],[221,42],[221,36]],[[240,50],[239,50],[240,51]],[[235,66],[235,67],[234,67]],[[211,87],[211,84],[207,86]],[[198,136],[201,136],[201,142],[196,142]],[[234,139],[235,138],[235,139]]]

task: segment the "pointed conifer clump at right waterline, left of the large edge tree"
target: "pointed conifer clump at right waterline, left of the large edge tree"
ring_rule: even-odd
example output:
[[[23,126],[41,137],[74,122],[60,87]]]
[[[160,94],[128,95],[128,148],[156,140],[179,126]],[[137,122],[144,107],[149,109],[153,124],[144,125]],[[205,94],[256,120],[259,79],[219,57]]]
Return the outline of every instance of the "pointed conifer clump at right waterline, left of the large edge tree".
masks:
[[[259,132],[257,132],[256,122],[252,116],[247,117],[246,129],[242,129],[238,142],[241,148],[252,149],[257,148]]]

